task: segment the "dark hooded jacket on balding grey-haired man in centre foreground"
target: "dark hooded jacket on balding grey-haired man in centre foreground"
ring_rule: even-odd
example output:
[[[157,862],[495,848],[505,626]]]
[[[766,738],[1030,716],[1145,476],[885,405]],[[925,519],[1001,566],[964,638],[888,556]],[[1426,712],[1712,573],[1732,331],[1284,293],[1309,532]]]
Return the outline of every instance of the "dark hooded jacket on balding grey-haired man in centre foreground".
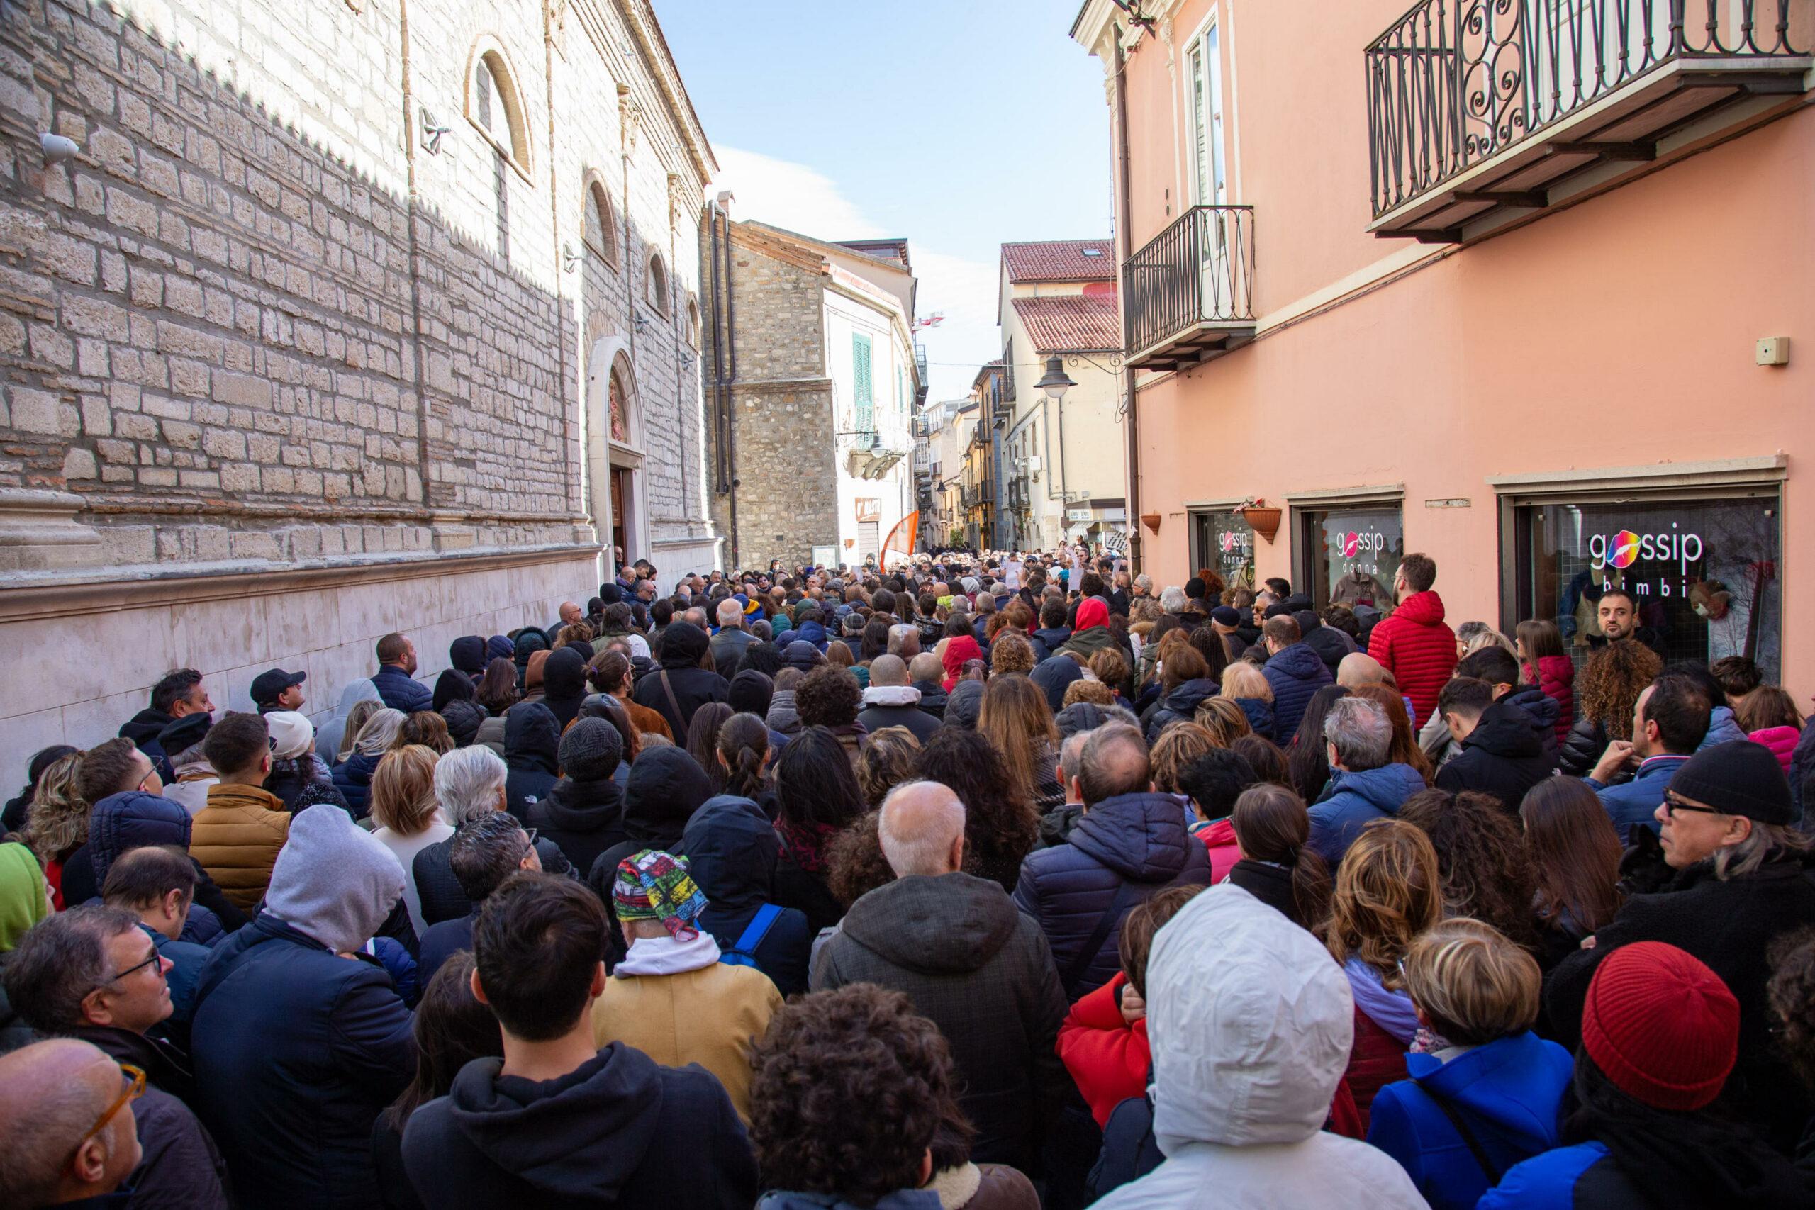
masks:
[[[813,961],[813,989],[906,992],[951,1043],[976,1127],[971,1159],[1024,1168],[1071,1092],[1058,1059],[1065,994],[1040,927],[987,878],[908,876],[851,903]]]

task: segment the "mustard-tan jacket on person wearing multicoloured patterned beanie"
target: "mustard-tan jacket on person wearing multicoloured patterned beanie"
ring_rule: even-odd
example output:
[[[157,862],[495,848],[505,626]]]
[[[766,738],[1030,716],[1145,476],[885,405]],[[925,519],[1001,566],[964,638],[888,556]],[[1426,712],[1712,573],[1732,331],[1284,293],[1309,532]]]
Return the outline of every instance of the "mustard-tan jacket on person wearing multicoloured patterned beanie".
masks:
[[[755,967],[715,961],[681,974],[613,974],[592,1005],[597,1045],[623,1041],[661,1063],[699,1063],[719,1078],[750,1123],[750,1059],[782,1007],[782,994]]]

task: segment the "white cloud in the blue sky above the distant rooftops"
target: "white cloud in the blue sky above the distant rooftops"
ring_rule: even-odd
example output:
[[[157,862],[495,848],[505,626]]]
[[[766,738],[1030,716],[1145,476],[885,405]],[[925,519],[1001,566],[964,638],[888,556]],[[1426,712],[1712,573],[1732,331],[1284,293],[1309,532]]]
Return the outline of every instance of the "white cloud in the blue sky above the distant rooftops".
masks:
[[[922,334],[927,361],[927,399],[957,399],[969,392],[976,368],[1000,352],[996,330],[996,265],[947,256],[915,243],[913,230],[884,230],[840,192],[837,181],[804,163],[777,160],[739,147],[713,147],[719,178],[711,192],[730,189],[731,218],[786,227],[817,239],[875,239],[906,236],[920,288],[920,316],[944,312],[937,328]]]

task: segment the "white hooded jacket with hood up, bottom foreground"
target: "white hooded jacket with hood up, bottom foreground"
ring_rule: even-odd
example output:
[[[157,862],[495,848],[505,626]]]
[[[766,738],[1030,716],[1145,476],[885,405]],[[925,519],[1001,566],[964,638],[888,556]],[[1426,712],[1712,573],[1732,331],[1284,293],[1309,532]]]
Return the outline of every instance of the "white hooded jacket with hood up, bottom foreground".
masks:
[[[1160,929],[1147,1038],[1165,1163],[1100,1210],[1425,1206],[1385,1152],[1321,1130],[1354,1041],[1349,980],[1241,887],[1211,887]]]

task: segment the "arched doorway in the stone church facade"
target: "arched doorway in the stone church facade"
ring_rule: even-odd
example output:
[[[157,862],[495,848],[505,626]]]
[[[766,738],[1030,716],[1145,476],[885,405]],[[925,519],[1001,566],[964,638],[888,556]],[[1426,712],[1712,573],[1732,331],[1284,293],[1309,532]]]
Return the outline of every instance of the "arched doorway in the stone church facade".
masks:
[[[637,379],[619,337],[594,345],[586,377],[586,481],[599,532],[601,579],[619,561],[648,559],[648,504],[643,483],[643,410]]]

